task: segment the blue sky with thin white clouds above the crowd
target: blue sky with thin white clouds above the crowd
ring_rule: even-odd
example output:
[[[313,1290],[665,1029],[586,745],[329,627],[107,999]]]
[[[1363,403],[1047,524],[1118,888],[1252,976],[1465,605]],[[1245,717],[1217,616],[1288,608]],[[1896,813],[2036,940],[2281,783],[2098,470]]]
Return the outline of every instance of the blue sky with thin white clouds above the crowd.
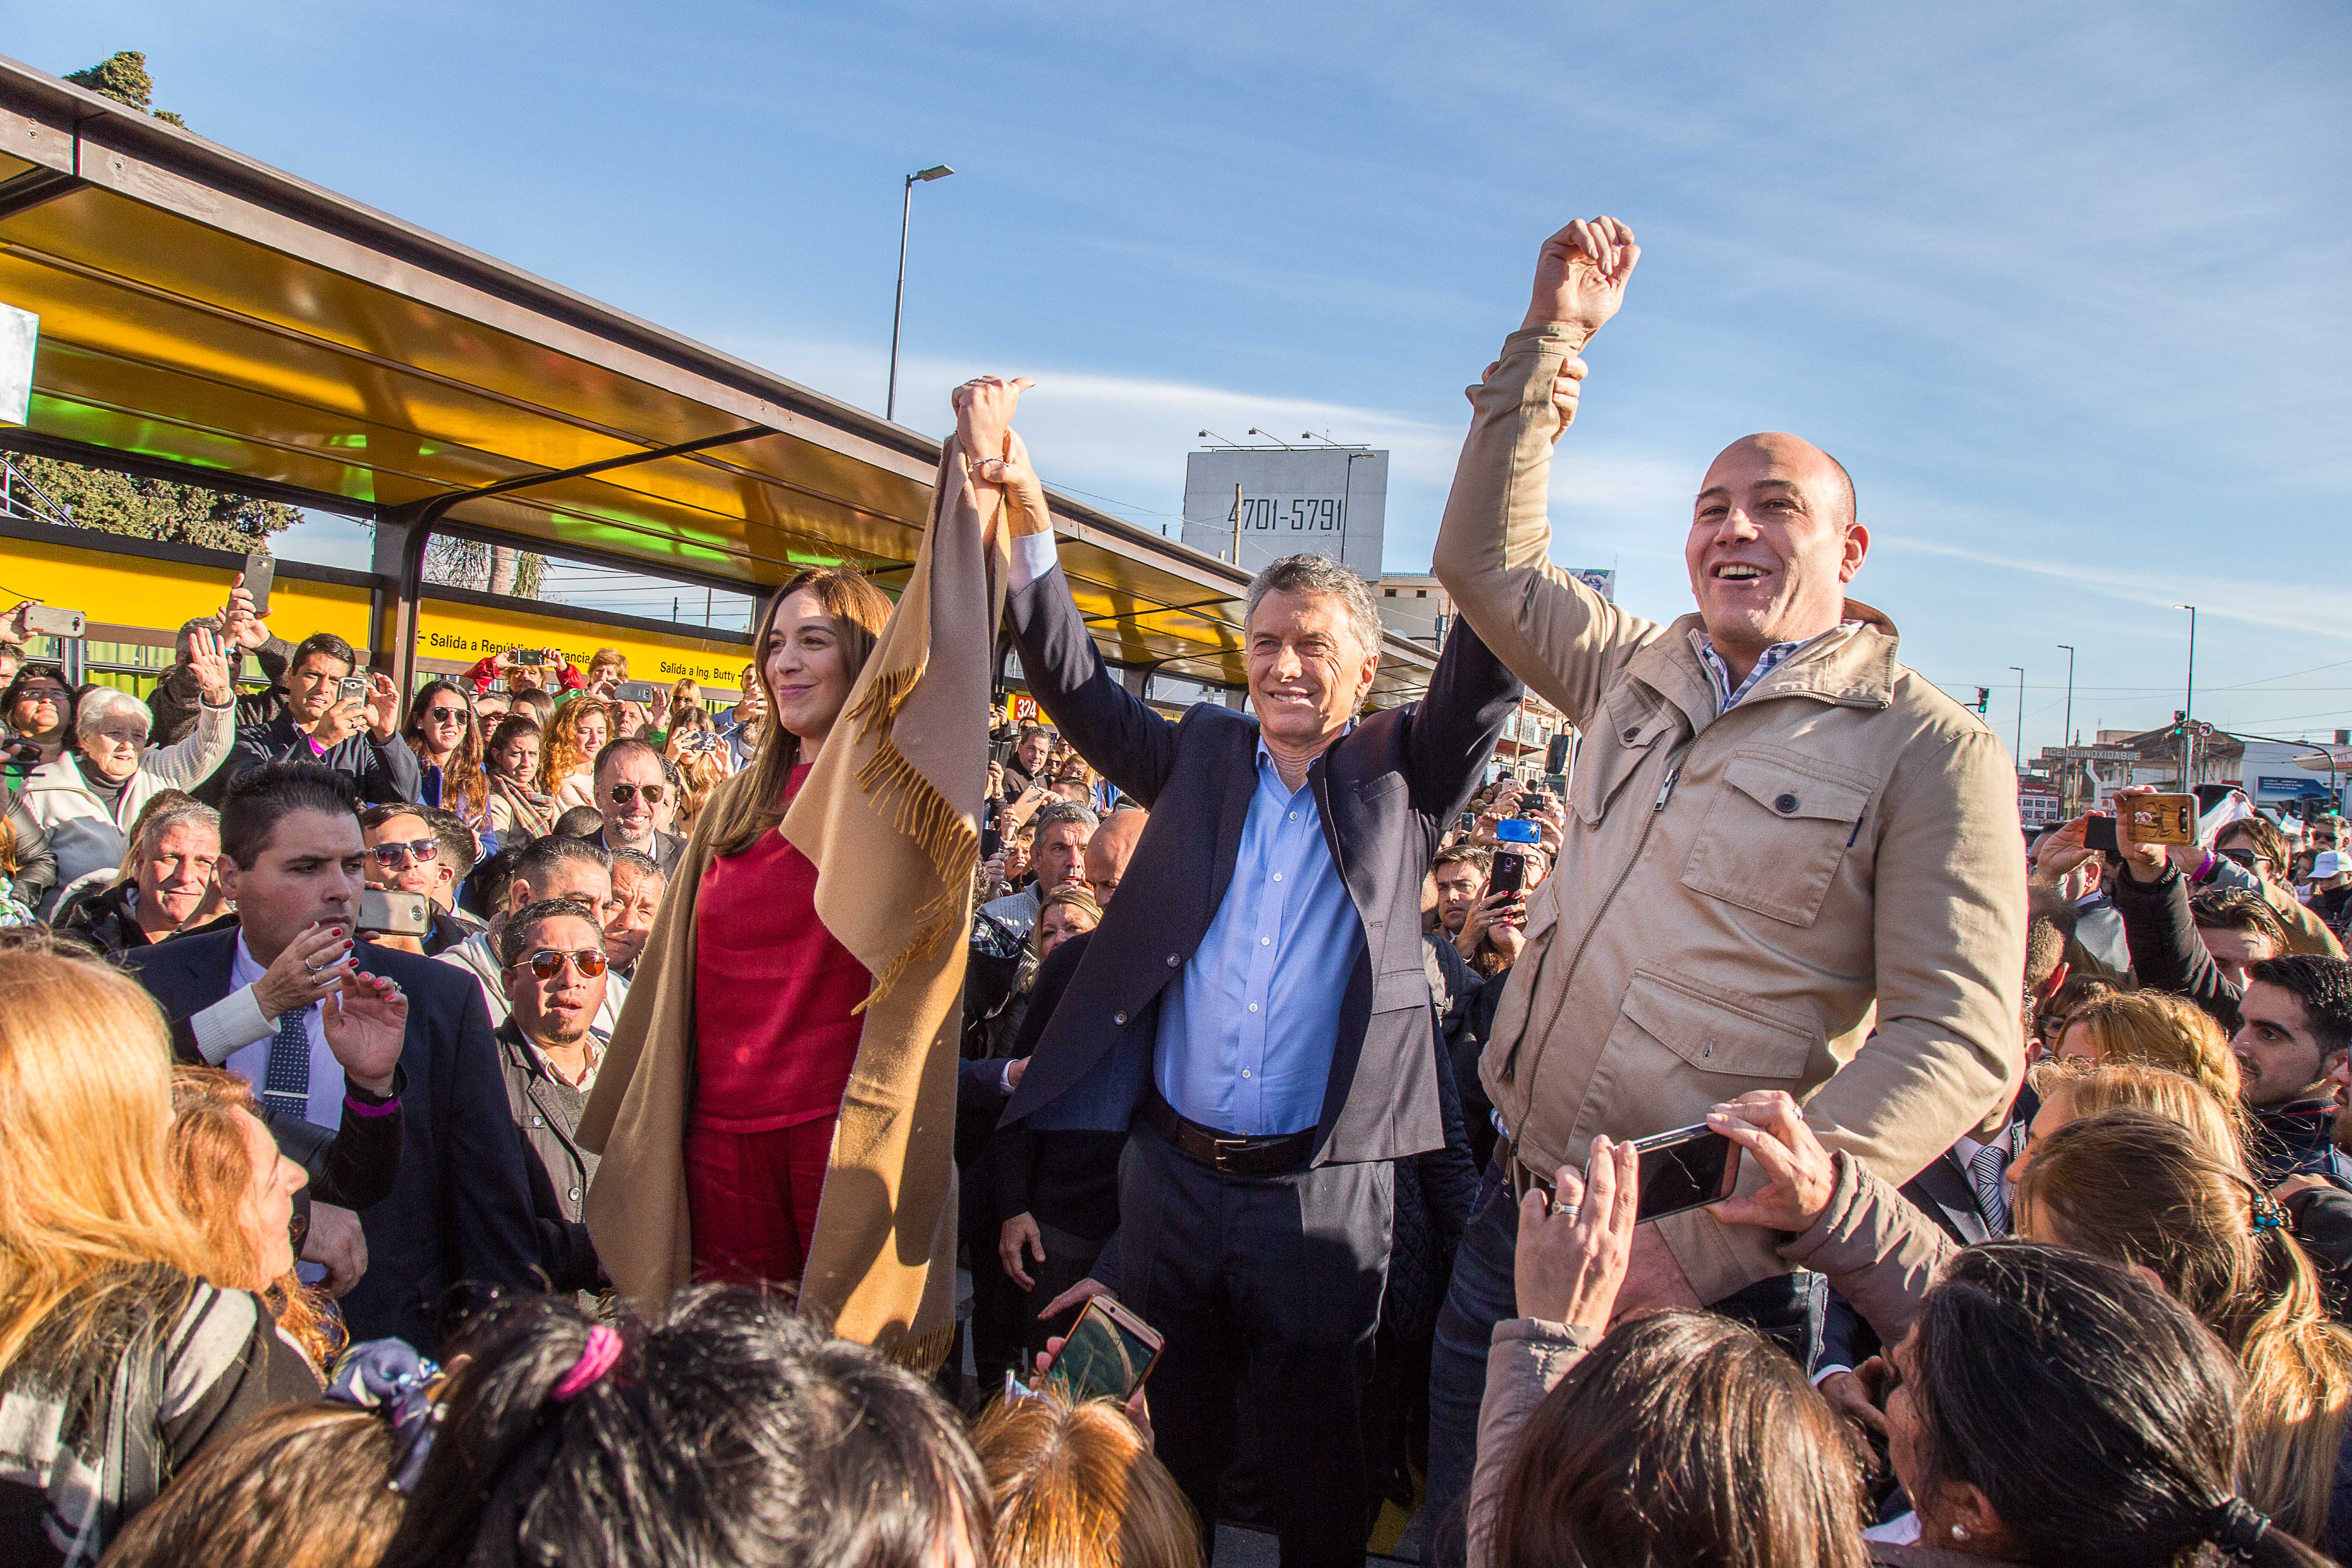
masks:
[[[1853,470],[1856,595],[2060,738],[2352,726],[2352,14],[2312,5],[261,5],[87,0],[223,143],[901,416],[1023,371],[1049,482],[1174,520],[1200,428],[1392,449],[1423,569],[1536,244],[1644,244],[1555,555],[1689,609],[1708,458]],[[327,550],[332,541],[318,541]]]

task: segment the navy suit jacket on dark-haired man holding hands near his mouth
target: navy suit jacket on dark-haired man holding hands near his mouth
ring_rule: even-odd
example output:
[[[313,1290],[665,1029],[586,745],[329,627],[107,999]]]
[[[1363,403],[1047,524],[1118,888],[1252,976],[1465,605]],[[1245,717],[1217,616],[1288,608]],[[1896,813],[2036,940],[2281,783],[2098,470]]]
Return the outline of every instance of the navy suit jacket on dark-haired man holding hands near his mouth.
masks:
[[[230,926],[141,947],[125,964],[176,1025],[228,994],[235,950]],[[341,1300],[343,1321],[353,1340],[397,1335],[435,1356],[452,1286],[541,1288],[532,1187],[482,987],[468,971],[412,952],[374,943],[358,952],[365,973],[390,976],[409,997],[400,1048],[407,1131],[393,1194],[360,1211],[367,1274]]]

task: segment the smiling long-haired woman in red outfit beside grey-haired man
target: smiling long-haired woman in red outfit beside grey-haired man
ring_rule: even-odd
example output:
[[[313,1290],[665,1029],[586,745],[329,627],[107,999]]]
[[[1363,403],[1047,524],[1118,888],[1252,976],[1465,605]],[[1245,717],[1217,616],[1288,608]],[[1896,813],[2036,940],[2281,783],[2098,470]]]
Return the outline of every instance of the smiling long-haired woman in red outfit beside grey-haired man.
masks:
[[[684,1084],[684,1124],[635,1128],[621,1168],[637,1173],[642,1199],[677,1161],[687,1237],[661,1237],[668,1251],[640,1258],[616,1253],[637,1239],[600,1232],[619,1281],[684,1262],[696,1281],[797,1286],[807,1269],[873,978],[826,931],[816,863],[779,827],[889,614],[861,574],[807,569],[769,599],[753,637],[769,698],[760,757],[696,816],[583,1121],[614,1114],[637,1072]],[[607,1143],[597,1180],[614,1168]]]

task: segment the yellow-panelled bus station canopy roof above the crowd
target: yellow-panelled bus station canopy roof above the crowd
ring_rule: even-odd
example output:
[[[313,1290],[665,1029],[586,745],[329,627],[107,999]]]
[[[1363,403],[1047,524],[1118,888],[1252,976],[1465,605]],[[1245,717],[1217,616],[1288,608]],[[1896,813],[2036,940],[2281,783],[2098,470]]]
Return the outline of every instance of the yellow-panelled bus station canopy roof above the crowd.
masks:
[[[409,524],[416,552],[430,529],[739,592],[840,562],[894,585],[938,463],[915,430],[9,59],[0,301],[40,315],[0,447],[379,541]],[[1065,496],[1054,522],[1110,663],[1247,684],[1247,574]],[[381,562],[414,642],[414,571]],[[1371,701],[1421,696],[1430,665],[1388,637]]]

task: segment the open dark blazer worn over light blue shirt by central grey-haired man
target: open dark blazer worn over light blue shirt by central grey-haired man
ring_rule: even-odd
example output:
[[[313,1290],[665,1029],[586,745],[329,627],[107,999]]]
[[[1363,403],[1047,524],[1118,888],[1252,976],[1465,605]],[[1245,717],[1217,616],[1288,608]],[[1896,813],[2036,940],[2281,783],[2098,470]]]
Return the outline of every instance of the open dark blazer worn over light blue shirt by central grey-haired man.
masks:
[[[1103,663],[1058,567],[1011,595],[1007,614],[1040,708],[1152,818],[1004,1121],[1127,1131],[1150,1084],[1160,994],[1232,884],[1258,788],[1258,724],[1214,703],[1178,722],[1143,705]],[[1428,698],[1367,717],[1308,769],[1324,842],[1364,924],[1352,969],[1334,976],[1345,997],[1315,1164],[1444,1145],[1421,882],[1517,701],[1519,682],[1456,618]]]

